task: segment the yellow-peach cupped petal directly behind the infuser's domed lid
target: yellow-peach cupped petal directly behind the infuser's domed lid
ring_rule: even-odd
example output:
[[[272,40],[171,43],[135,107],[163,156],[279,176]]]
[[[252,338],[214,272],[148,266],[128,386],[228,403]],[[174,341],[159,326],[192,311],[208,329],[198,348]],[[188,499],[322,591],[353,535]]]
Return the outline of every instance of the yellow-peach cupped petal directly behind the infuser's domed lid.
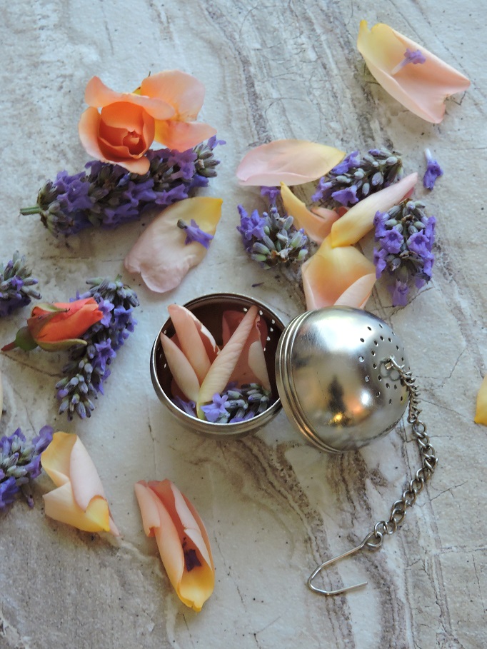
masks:
[[[306,308],[366,305],[376,281],[376,267],[353,246],[332,248],[330,237],[302,266]]]

